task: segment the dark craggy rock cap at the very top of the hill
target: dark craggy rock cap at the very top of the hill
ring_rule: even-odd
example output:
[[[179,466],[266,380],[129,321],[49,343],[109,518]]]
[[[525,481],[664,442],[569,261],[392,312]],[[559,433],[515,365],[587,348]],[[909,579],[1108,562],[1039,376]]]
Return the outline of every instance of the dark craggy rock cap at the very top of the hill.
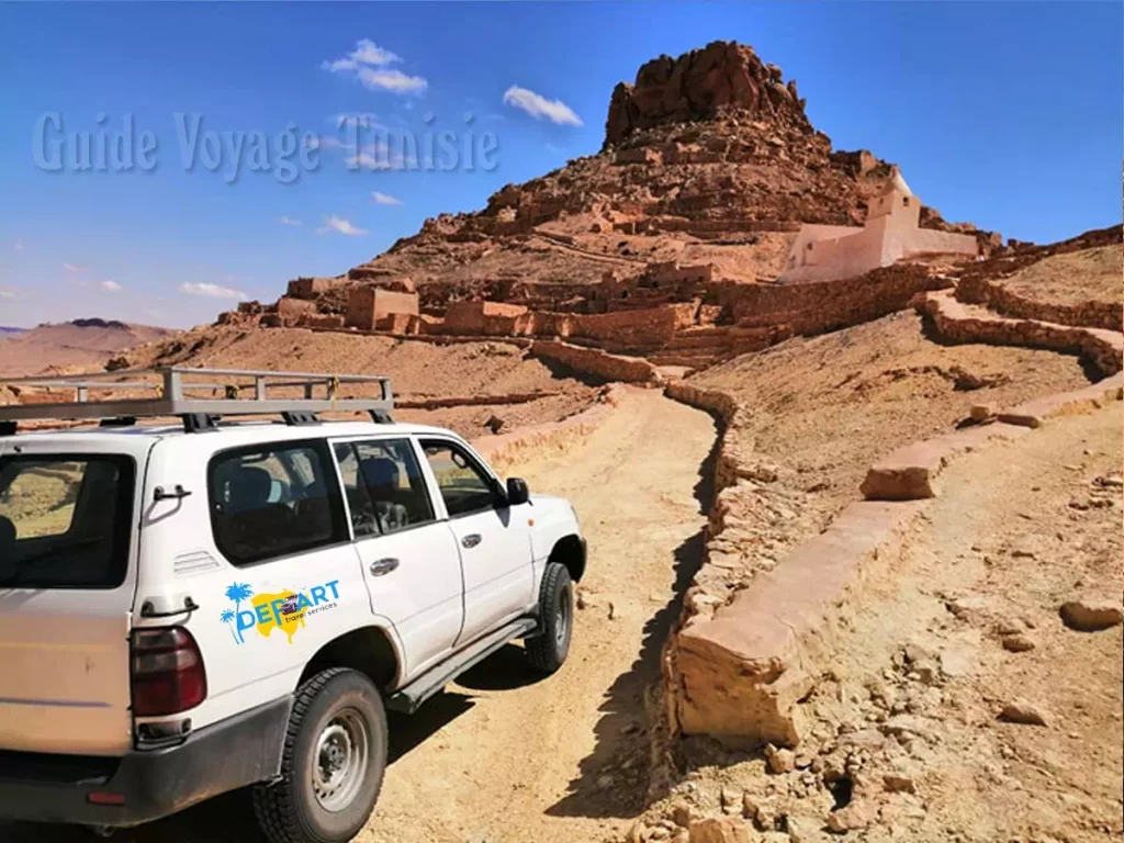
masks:
[[[786,84],[776,64],[763,63],[752,47],[716,40],[678,58],[653,58],[641,66],[635,84],[618,83],[609,101],[605,145],[619,144],[638,129],[713,119],[726,109],[810,133],[804,105],[796,81]]]

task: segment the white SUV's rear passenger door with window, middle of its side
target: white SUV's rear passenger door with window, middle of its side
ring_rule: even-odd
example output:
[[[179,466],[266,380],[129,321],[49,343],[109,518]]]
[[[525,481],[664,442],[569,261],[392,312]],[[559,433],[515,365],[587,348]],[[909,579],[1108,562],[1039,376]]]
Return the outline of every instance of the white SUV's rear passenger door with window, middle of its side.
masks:
[[[437,507],[408,437],[333,445],[371,610],[390,618],[402,643],[402,679],[447,655],[464,618],[456,540]]]

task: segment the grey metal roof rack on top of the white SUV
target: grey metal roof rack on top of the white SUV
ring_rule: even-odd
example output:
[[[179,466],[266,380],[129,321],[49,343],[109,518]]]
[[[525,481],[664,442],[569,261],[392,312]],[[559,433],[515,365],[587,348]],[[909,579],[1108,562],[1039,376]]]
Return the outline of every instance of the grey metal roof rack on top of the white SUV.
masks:
[[[200,378],[203,380],[198,380]],[[378,383],[380,397],[339,397],[342,386],[362,383]],[[43,419],[100,420],[102,426],[126,426],[135,424],[138,418],[179,416],[183,428],[194,433],[214,429],[223,416],[280,415],[285,424],[300,425],[318,422],[317,413],[360,410],[370,413],[375,422],[389,423],[390,410],[393,409],[390,378],[374,374],[161,366],[81,375],[0,379],[0,386],[3,384],[73,389],[75,400],[0,406],[0,435],[13,434],[19,422]],[[302,397],[277,397],[278,390],[293,388],[299,389]],[[133,390],[151,395],[91,400],[91,393],[97,391]],[[209,391],[210,395],[200,397],[201,391]],[[243,397],[247,392],[252,397]]]

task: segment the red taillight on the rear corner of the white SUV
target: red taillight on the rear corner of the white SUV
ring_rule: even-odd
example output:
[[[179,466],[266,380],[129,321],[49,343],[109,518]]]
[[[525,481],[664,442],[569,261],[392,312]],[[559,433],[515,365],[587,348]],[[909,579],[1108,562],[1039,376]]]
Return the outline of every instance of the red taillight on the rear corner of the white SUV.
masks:
[[[134,629],[133,714],[156,717],[194,708],[207,698],[207,671],[191,633],[180,626]]]

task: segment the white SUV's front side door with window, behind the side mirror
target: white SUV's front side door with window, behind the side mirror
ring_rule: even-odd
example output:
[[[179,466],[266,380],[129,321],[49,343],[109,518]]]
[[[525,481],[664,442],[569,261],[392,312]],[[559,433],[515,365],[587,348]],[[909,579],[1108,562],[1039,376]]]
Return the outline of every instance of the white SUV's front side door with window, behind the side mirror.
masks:
[[[508,507],[499,480],[463,443],[427,436],[420,445],[461,554],[459,643],[468,643],[534,605],[528,505]]]

